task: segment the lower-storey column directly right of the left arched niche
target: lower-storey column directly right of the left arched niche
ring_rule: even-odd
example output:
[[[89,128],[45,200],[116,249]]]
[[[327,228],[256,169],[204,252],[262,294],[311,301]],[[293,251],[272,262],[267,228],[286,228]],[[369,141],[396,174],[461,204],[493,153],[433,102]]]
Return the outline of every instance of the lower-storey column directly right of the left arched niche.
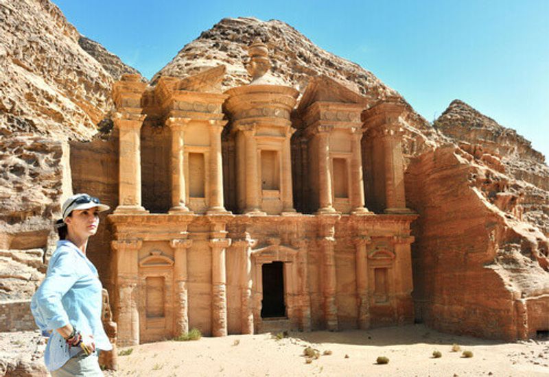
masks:
[[[174,291],[175,291],[175,315],[174,335],[187,334],[189,332],[189,301],[187,297],[187,249],[191,247],[192,240],[173,239],[170,245],[174,248]]]

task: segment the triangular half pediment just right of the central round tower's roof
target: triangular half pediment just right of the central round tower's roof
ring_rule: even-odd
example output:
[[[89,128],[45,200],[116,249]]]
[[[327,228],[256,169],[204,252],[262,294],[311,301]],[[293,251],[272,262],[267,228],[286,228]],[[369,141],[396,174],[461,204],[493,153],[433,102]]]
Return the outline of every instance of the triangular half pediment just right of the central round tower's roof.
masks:
[[[336,102],[338,104],[364,105],[366,98],[325,75],[312,77],[298,106],[298,112],[305,111],[315,102]]]

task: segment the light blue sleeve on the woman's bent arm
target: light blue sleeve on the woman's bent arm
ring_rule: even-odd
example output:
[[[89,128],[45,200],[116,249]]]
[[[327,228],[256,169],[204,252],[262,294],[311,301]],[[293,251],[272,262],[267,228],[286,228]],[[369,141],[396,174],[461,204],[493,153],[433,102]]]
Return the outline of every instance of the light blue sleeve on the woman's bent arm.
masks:
[[[78,280],[77,263],[70,252],[60,250],[47,276],[34,293],[31,311],[41,330],[56,330],[69,324],[62,298]],[[54,259],[54,258],[52,258]]]

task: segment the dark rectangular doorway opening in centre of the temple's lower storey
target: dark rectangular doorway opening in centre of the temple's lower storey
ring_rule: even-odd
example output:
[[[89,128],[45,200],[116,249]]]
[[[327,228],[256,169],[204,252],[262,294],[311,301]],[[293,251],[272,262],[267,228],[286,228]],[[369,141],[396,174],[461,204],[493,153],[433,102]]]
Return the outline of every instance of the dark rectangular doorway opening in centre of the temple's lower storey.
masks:
[[[263,273],[263,300],[261,318],[285,317],[283,263],[265,263]]]

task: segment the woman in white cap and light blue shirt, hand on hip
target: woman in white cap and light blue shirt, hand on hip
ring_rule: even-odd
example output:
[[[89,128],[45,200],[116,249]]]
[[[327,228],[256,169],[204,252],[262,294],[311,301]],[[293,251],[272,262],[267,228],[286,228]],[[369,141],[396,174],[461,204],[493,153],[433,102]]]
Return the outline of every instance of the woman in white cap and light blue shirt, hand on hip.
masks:
[[[103,376],[97,350],[112,349],[101,321],[102,284],[86,257],[88,239],[99,226],[98,214],[108,208],[87,194],[65,201],[56,223],[60,241],[32,297],[36,324],[50,334],[44,358],[54,377]]]

